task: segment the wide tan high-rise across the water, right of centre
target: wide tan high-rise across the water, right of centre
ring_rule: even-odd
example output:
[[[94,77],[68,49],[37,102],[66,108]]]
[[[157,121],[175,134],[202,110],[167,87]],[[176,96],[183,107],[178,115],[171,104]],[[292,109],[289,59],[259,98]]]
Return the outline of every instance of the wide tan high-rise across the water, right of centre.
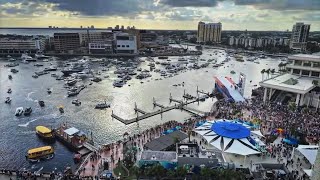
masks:
[[[220,43],[222,24],[219,23],[198,23],[198,43]]]

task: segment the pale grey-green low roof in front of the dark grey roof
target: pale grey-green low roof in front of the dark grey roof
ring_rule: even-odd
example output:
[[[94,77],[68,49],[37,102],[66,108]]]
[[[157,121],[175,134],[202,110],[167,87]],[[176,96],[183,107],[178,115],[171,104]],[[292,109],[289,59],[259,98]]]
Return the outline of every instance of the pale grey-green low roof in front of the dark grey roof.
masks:
[[[140,160],[145,161],[177,161],[175,151],[142,151]]]

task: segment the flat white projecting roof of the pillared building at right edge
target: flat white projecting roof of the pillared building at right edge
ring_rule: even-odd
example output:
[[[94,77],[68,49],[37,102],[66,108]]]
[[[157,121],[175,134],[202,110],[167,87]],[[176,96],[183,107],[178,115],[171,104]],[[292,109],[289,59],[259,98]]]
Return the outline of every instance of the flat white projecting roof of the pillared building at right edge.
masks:
[[[297,82],[295,81],[297,80]],[[293,74],[283,74],[271,79],[260,82],[260,86],[272,89],[278,89],[287,92],[305,94],[315,86],[312,84],[312,78],[301,77]],[[290,83],[295,81],[295,83]]]

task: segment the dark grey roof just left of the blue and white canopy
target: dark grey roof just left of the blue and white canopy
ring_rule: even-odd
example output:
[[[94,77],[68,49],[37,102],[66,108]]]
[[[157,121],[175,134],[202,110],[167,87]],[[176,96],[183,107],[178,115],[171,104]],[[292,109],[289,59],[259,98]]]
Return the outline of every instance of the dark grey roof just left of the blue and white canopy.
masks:
[[[162,151],[169,146],[172,146],[175,144],[174,139],[178,138],[180,141],[186,139],[188,137],[187,134],[181,132],[181,131],[174,131],[170,134],[161,136],[157,139],[154,139],[148,143],[146,143],[144,146],[147,149],[153,150],[153,151]]]

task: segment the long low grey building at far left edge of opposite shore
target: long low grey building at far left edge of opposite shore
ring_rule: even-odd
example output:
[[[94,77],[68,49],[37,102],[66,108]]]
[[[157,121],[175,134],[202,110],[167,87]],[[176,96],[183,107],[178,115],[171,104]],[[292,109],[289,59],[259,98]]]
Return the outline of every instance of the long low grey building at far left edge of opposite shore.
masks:
[[[43,51],[45,48],[45,39],[0,39],[0,53],[36,53]]]

